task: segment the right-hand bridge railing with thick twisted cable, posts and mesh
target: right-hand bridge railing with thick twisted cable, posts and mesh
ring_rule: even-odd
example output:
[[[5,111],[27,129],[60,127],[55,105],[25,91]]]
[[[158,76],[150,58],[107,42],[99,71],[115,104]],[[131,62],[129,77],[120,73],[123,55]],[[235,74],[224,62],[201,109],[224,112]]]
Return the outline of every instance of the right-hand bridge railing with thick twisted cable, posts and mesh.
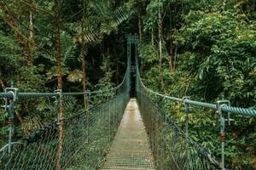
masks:
[[[232,121],[230,115],[256,116],[256,110],[231,106],[228,100],[218,100],[216,104],[212,104],[191,100],[186,96],[181,99],[154,92],[143,84],[138,63],[136,86],[138,104],[150,136],[156,166],[160,169],[166,166],[172,166],[173,169],[214,169],[216,167],[225,169],[225,128]],[[183,105],[184,130],[179,128],[163,110],[167,101]],[[163,105],[160,105],[160,103]],[[216,116],[220,122],[221,161],[218,162],[211,156],[211,150],[207,150],[189,139],[188,126],[191,106],[200,106],[216,111]]]

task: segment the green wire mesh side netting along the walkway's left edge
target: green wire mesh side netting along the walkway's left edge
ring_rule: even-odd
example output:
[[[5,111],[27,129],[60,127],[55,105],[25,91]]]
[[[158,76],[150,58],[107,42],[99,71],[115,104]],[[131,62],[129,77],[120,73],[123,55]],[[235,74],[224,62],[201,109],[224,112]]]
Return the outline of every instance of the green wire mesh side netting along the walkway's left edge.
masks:
[[[64,120],[61,168],[96,169],[101,165],[125,111],[125,90],[102,105]],[[58,122],[50,122],[14,144],[11,155],[0,152],[1,168],[55,169],[60,138]]]

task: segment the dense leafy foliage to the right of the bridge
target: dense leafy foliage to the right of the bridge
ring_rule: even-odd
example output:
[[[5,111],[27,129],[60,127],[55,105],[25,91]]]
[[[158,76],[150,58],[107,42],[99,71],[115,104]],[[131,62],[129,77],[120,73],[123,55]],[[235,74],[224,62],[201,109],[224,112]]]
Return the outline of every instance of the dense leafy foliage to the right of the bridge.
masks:
[[[143,82],[162,94],[212,103],[229,99],[231,105],[255,108],[254,10],[254,1],[150,1],[139,47]],[[171,101],[164,106],[184,127],[183,106]],[[190,113],[190,137],[219,158],[218,114],[200,108]],[[255,169],[256,120],[232,118],[226,141],[229,167]]]

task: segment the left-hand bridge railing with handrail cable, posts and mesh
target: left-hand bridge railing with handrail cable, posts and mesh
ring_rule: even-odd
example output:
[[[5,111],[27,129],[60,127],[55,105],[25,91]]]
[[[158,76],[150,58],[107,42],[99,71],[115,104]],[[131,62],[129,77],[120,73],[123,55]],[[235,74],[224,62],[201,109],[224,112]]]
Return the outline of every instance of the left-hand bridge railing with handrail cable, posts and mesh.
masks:
[[[7,88],[4,93],[0,93],[0,98],[5,100],[3,108],[9,115],[9,135],[5,138],[7,144],[0,149],[0,169],[100,167],[125,112],[130,97],[130,84],[128,60],[123,81],[111,89],[78,93],[63,93],[61,90],[55,93],[19,93],[17,88]],[[84,95],[89,105],[86,109],[77,105]],[[20,131],[20,127],[15,125],[15,110],[23,111],[20,108],[26,107],[23,101],[33,104],[46,102],[50,105],[49,109],[29,114],[46,116],[45,120],[51,120],[34,127],[25,137],[19,135],[17,130]],[[83,105],[83,102],[80,103]],[[62,118],[58,115],[60,105],[64,110]],[[67,111],[70,105],[73,109]]]

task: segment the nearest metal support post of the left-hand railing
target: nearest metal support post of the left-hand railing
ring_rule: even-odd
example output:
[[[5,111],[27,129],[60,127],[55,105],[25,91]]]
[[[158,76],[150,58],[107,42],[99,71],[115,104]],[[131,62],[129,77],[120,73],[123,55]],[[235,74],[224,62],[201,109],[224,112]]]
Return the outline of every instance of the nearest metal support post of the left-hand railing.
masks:
[[[9,164],[10,164],[10,157],[11,157],[11,152],[12,152],[12,137],[13,134],[15,133],[15,102],[18,99],[18,94],[19,90],[18,88],[5,88],[4,89],[5,93],[11,93],[12,98],[7,99],[5,98],[5,105],[4,105],[4,110],[7,111],[9,115],[8,119],[8,125],[9,125],[9,139],[8,139],[8,155],[9,155],[9,162],[7,165],[7,169],[9,169]]]

